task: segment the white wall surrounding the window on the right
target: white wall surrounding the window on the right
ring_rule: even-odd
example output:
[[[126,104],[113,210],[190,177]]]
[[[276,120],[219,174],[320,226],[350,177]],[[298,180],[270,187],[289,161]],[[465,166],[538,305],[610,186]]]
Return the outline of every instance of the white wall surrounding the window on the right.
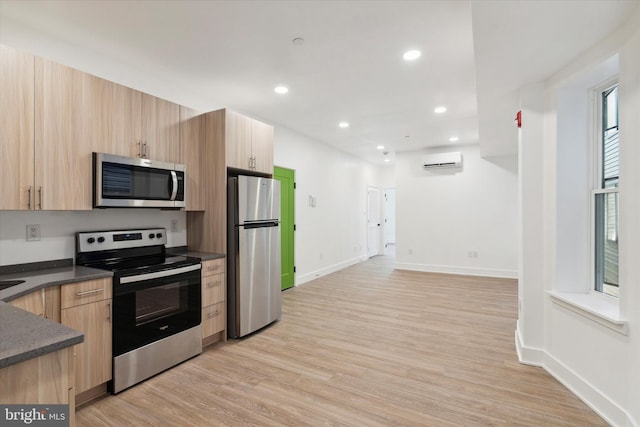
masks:
[[[542,212],[522,213],[519,356],[544,367],[616,426],[640,425],[640,8],[636,12],[625,26],[548,81],[522,91],[521,207],[542,204]],[[628,322],[628,335],[549,295],[561,292],[602,301],[587,292],[592,288],[593,141],[588,94],[616,73],[618,59],[621,297],[613,305],[619,305],[620,318]],[[538,109],[540,99],[543,111],[537,120],[527,120],[524,112],[534,104]],[[527,274],[540,262],[542,274]]]

